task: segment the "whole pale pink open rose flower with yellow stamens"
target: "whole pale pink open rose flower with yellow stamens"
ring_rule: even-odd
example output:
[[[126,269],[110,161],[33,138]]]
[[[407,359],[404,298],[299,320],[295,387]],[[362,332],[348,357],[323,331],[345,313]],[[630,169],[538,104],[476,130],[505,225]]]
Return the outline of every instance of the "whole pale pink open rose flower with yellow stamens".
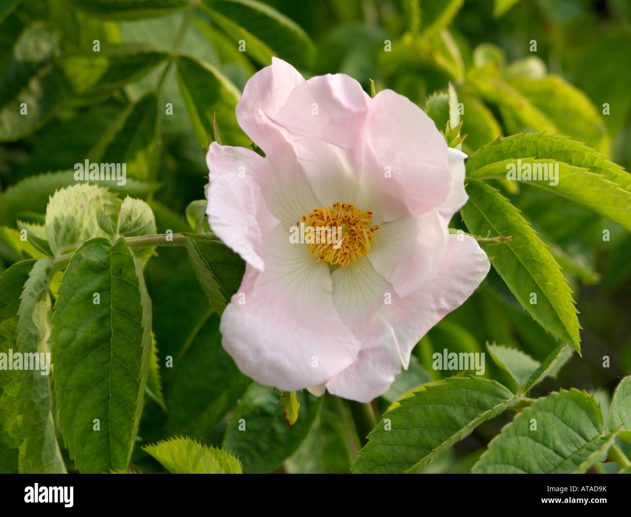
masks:
[[[237,121],[265,157],[217,143],[206,155],[209,224],[247,264],[223,347],[261,384],[370,401],[489,270],[447,228],[467,200],[466,155],[406,97],[371,98],[343,74],[304,80],[276,58]],[[300,222],[343,237],[296,243]]]

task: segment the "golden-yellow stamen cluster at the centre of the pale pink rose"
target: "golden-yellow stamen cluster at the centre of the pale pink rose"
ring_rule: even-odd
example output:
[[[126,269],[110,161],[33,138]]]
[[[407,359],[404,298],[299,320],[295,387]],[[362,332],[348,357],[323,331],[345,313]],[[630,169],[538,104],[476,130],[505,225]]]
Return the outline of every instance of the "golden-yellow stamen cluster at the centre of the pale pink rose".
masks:
[[[302,222],[315,232],[315,238],[307,240],[309,253],[331,265],[348,265],[366,255],[379,229],[379,225],[370,226],[370,210],[362,212],[350,203],[317,208],[309,217],[302,216]]]

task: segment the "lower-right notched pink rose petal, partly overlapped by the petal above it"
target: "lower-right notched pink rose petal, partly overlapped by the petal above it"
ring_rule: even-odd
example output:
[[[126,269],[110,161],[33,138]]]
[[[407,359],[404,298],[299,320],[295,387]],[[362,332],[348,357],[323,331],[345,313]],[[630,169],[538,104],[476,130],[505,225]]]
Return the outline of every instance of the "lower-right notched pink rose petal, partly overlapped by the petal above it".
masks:
[[[412,349],[427,331],[471,296],[487,275],[490,262],[475,239],[449,235],[437,276],[404,298],[385,279],[380,280],[374,269],[366,271],[367,261],[360,272],[351,271],[355,264],[334,271],[333,295],[343,320],[362,341],[362,351],[326,387],[343,398],[367,402],[387,391],[401,361],[408,367]],[[361,284],[359,279],[363,279]],[[342,287],[345,291],[338,293]],[[386,293],[391,295],[389,305],[384,303]]]

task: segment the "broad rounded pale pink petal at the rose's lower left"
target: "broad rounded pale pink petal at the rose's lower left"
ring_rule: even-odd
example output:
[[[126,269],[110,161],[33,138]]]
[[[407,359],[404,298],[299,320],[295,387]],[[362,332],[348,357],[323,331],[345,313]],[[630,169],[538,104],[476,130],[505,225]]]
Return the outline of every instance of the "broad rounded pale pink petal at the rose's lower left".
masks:
[[[264,271],[247,266],[221,317],[223,347],[239,369],[285,391],[326,382],[353,363],[361,346],[333,306],[328,264],[307,250],[290,244],[280,226],[267,234]]]

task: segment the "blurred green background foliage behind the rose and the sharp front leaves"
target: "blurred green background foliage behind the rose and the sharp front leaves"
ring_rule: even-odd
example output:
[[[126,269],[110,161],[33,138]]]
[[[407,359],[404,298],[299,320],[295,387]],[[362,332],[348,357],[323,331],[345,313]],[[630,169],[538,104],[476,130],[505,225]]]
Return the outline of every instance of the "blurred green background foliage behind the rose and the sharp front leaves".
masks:
[[[158,232],[189,230],[184,213],[203,198],[208,171],[200,148],[212,130],[213,112],[224,143],[249,145],[234,121],[237,90],[272,55],[305,76],[346,73],[368,92],[372,78],[377,90],[392,88],[422,107],[428,95],[454,83],[465,106],[468,154],[500,133],[547,130],[610,154],[627,169],[631,165],[628,1],[163,4],[174,12],[132,13],[129,19],[104,0],[9,1],[0,8],[0,270],[22,258],[11,238],[16,221],[44,222],[48,196],[71,184],[68,176],[38,175],[68,171],[86,158],[126,161],[130,179],[121,190],[147,200]],[[92,50],[96,39],[99,54]],[[238,51],[241,39],[246,52]],[[385,40],[391,40],[392,52],[384,52]],[[536,52],[529,50],[531,40]],[[531,88],[528,78],[551,77],[546,74],[562,79],[551,79],[543,90]],[[9,113],[16,95],[27,95],[27,121]],[[165,113],[167,102],[172,114]],[[606,116],[604,102],[610,105]],[[28,178],[33,182],[21,183]],[[16,185],[22,185],[22,197],[15,190],[11,197]],[[531,396],[576,387],[608,404],[618,381],[631,373],[631,236],[615,222],[533,186],[494,185],[545,241],[555,243],[553,254],[565,268],[583,327],[582,357],[574,354],[556,379],[546,379]],[[459,216],[452,226],[466,228]],[[609,241],[603,241],[603,229],[610,230]],[[275,408],[278,396],[251,385],[221,348],[218,316],[182,248],[160,248],[144,274],[160,364],[169,355],[178,364],[162,368],[168,410],[146,402],[139,429],[144,444],[188,435],[239,451],[249,471],[349,470],[360,446],[353,423],[357,408],[330,396],[316,401],[300,394],[300,417],[288,435]],[[428,373],[431,351],[447,345],[485,351],[487,341],[514,346],[536,360],[555,346],[493,269],[475,295],[417,346],[416,384],[439,378],[440,372]],[[604,355],[611,357],[610,368],[602,367]],[[490,366],[488,377],[501,376]],[[251,407],[242,403],[234,411],[246,389]],[[375,408],[385,410],[394,398],[380,398]],[[265,427],[263,440],[239,443],[239,437],[225,435],[242,413]],[[273,424],[266,420],[270,415]],[[503,415],[481,425],[429,469],[468,470],[508,421]],[[288,452],[291,458],[280,466]],[[67,451],[62,454],[71,470]],[[163,471],[140,447],[132,466]]]

